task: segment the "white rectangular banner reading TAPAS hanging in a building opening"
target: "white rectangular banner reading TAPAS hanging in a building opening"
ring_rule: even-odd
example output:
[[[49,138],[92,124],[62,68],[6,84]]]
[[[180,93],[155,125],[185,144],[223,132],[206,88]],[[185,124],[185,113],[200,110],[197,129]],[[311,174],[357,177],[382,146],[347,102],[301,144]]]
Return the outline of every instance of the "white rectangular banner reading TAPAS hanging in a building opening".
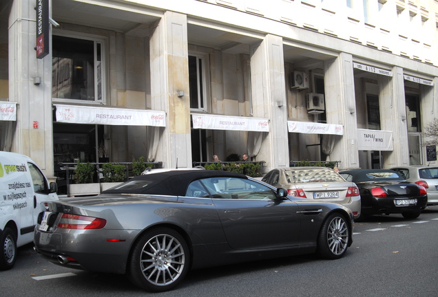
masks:
[[[357,148],[360,151],[393,151],[393,132],[357,129]]]

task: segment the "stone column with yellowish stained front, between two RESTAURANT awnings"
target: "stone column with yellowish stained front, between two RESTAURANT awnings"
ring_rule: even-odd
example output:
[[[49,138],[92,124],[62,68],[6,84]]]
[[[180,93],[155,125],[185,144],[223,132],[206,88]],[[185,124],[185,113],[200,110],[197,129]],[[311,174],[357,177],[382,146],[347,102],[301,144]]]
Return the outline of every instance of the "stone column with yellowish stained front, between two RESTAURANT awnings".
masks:
[[[165,12],[150,37],[152,109],[166,111],[156,161],[191,168],[187,17]],[[177,92],[184,96],[178,97]]]

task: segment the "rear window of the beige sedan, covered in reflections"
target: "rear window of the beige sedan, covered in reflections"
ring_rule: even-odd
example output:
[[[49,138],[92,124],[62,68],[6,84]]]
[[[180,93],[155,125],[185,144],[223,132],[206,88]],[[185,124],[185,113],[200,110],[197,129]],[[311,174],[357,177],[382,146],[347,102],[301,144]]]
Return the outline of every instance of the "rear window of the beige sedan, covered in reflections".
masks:
[[[344,181],[344,179],[330,168],[309,168],[284,170],[289,184],[302,184],[324,181]]]

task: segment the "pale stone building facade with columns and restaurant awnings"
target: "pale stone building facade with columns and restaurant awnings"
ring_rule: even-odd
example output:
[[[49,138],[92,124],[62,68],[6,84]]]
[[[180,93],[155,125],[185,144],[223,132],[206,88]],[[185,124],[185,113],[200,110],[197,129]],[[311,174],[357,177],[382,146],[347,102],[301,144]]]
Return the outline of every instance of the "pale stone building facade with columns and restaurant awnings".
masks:
[[[302,160],[437,165],[423,145],[438,113],[437,0],[0,9],[1,149],[48,176],[60,162],[190,168],[243,153],[264,172]]]

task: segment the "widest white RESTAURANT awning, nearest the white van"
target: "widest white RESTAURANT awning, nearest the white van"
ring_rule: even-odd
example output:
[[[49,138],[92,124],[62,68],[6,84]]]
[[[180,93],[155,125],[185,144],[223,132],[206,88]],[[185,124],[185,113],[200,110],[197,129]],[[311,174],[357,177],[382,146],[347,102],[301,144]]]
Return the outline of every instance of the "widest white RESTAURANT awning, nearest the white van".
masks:
[[[56,122],[72,124],[105,124],[117,126],[165,126],[165,111],[83,107],[55,104]]]

